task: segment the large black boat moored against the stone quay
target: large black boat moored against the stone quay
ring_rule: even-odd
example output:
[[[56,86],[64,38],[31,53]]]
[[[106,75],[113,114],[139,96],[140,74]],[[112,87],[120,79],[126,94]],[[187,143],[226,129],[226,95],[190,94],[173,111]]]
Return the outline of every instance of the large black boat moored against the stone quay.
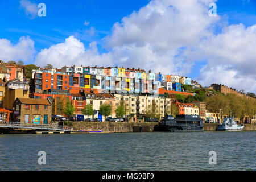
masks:
[[[166,115],[154,131],[203,131],[200,115]]]

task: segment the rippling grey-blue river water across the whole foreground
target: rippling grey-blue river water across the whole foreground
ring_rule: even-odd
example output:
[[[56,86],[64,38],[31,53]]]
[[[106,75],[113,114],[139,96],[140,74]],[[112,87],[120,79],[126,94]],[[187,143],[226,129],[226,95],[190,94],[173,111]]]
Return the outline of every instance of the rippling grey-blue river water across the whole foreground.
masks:
[[[256,170],[255,139],[256,131],[7,134],[0,170]]]

